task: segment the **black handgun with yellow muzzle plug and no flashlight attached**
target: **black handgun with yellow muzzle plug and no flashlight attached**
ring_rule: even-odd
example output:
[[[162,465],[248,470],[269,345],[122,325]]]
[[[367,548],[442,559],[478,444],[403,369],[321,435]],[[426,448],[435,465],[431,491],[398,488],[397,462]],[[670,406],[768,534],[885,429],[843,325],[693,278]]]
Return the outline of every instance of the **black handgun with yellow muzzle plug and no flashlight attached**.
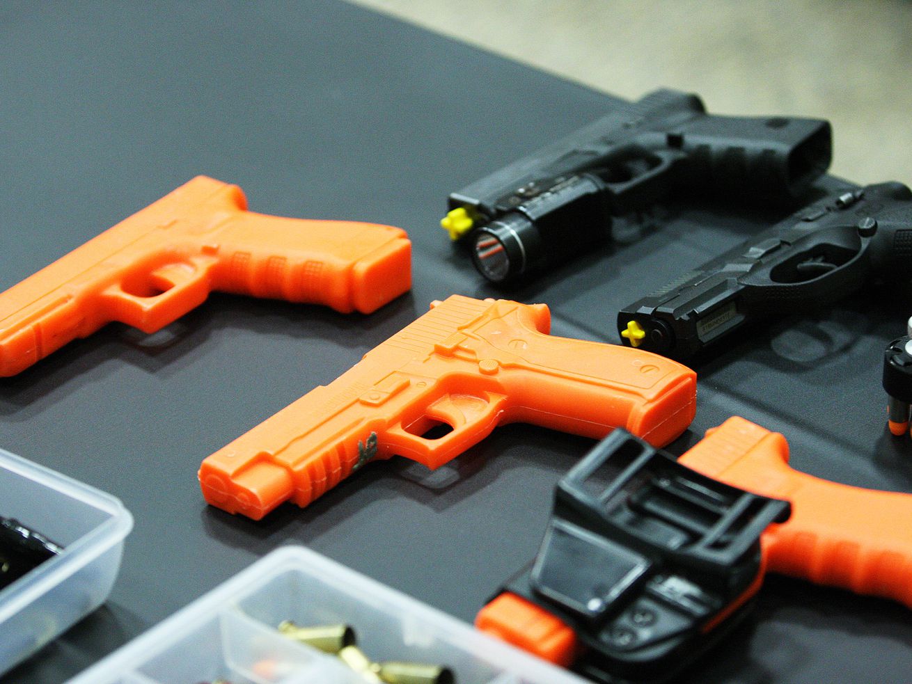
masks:
[[[617,315],[624,344],[679,360],[736,329],[824,306],[873,276],[909,277],[912,192],[846,186]]]

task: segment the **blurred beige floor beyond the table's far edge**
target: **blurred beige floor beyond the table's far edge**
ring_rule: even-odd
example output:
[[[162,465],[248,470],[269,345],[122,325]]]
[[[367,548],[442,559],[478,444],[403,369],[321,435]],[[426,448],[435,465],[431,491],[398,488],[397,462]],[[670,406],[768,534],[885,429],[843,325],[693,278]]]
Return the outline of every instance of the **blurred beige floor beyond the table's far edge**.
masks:
[[[912,184],[906,0],[353,1],[625,98],[665,86],[717,114],[830,119],[831,171]]]

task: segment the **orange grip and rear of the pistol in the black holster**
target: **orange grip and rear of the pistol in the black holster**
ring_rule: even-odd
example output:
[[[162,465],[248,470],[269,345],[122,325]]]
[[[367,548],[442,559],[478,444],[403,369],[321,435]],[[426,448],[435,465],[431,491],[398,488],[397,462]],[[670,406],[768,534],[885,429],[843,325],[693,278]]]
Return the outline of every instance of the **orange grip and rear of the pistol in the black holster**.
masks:
[[[734,417],[681,456],[712,478],[792,503],[762,536],[768,569],[912,607],[912,495],[794,471],[781,434]]]

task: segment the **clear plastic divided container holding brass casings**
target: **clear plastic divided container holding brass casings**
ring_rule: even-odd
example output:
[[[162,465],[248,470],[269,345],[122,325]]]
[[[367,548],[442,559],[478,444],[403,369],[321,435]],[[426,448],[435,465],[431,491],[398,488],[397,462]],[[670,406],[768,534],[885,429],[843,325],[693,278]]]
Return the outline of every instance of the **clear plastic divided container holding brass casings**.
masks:
[[[350,625],[368,657],[445,665],[457,684],[585,684],[301,546],[266,555],[70,684],[365,684],[282,636],[283,620]]]

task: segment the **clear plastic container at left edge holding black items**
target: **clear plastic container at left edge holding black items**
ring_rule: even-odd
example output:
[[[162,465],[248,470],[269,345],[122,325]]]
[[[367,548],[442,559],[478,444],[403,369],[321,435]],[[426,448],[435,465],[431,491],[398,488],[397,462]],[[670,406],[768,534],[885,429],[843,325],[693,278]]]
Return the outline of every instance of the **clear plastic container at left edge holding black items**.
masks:
[[[108,598],[133,516],[99,492],[0,449],[0,515],[64,546],[0,591],[0,674]]]

